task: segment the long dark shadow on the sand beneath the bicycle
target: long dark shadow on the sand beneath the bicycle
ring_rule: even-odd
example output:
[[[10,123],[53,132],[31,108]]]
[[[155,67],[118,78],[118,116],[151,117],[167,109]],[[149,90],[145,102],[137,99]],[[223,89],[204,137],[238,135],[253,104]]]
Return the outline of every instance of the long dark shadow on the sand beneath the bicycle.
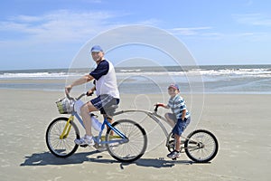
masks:
[[[94,154],[98,154],[98,151],[92,151],[87,153],[77,153],[70,157],[61,158],[55,157],[50,152],[34,153],[30,157],[25,157],[24,162],[20,165],[25,166],[59,166],[59,165],[76,165],[84,162],[95,162],[99,164],[120,164],[119,167],[124,169],[127,166],[136,165],[139,167],[173,167],[176,165],[192,165],[195,164],[190,160],[166,160],[164,157],[160,158],[141,158],[132,163],[120,163],[115,159],[104,159],[103,156],[89,157]]]

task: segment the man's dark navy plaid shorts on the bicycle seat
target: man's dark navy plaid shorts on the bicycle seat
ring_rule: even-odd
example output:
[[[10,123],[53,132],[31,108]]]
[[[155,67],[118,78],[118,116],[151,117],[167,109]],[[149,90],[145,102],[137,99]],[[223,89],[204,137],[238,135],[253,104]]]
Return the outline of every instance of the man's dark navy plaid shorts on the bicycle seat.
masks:
[[[107,108],[112,105],[117,105],[119,103],[119,99],[114,98],[108,94],[99,95],[97,98],[90,100],[92,105],[100,110],[101,114],[107,114]]]

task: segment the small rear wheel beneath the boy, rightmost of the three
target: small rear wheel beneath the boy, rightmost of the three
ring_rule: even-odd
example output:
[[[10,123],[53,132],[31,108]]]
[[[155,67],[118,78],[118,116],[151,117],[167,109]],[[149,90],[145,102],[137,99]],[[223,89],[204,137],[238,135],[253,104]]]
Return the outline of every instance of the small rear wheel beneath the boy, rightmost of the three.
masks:
[[[184,142],[185,153],[193,161],[206,163],[216,157],[219,142],[210,131],[197,129],[192,131],[187,138]]]

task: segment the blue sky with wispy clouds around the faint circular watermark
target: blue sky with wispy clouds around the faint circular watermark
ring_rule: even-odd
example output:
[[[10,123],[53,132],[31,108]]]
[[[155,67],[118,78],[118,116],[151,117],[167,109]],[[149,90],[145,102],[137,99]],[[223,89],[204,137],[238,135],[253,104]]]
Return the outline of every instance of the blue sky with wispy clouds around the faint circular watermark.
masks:
[[[270,9],[269,0],[2,0],[0,70],[68,68],[89,40],[135,24],[172,34],[199,65],[270,64]]]

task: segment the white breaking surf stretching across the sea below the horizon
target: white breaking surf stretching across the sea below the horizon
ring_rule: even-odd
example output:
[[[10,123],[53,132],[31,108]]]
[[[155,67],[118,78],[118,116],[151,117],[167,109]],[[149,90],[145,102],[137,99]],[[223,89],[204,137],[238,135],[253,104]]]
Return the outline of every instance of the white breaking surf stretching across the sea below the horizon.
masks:
[[[240,69],[190,69],[182,71],[166,71],[154,69],[120,69],[117,70],[118,77],[126,76],[202,76],[211,78],[220,77],[262,77],[271,78],[271,69],[267,68],[240,68]],[[82,71],[0,71],[0,79],[27,79],[27,78],[37,78],[37,79],[67,79],[70,77],[80,77],[86,72]]]

